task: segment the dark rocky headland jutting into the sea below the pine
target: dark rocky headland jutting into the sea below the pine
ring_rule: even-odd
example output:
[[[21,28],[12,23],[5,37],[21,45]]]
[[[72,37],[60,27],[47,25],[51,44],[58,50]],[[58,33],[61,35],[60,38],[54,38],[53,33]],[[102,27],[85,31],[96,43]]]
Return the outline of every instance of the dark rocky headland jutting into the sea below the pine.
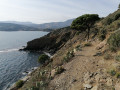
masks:
[[[76,31],[68,28],[57,29],[41,38],[32,40],[27,43],[24,50],[47,51],[55,53],[68,40],[74,37]]]

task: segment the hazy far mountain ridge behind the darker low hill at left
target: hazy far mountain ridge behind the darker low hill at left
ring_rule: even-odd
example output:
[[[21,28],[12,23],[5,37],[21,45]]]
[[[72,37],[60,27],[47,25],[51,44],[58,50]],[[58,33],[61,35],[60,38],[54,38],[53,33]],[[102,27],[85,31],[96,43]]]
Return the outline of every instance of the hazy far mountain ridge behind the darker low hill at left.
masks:
[[[18,22],[18,21],[0,21],[0,23],[24,25],[24,27],[26,26],[31,28],[37,28],[43,31],[52,31],[53,29],[59,29],[59,28],[70,26],[73,20],[74,19],[70,19],[64,22],[50,22],[50,23],[44,23],[44,24],[35,24],[32,22]]]

